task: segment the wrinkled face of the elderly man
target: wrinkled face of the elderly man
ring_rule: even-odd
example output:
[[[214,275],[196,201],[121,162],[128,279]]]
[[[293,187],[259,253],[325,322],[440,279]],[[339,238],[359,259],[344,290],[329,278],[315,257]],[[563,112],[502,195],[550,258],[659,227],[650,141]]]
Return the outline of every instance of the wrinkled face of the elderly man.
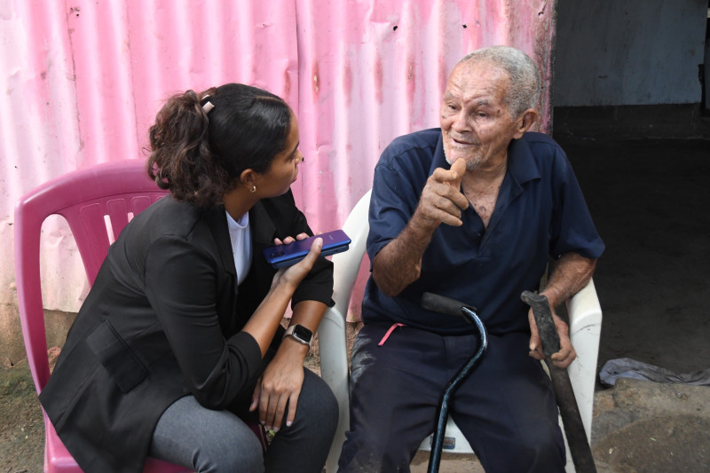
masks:
[[[504,103],[508,87],[508,73],[489,62],[454,68],[440,116],[447,162],[463,158],[468,170],[504,162],[516,134],[516,120]]]

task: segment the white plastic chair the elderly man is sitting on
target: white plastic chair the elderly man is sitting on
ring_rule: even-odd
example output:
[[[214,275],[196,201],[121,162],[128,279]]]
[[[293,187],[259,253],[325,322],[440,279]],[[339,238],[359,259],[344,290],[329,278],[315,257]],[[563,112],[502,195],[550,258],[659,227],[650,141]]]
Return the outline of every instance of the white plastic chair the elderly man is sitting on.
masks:
[[[340,408],[340,419],[335,431],[333,445],[328,454],[327,473],[337,471],[337,461],[345,440],[345,431],[350,424],[350,395],[348,390],[349,367],[348,353],[345,343],[345,319],[350,305],[352,287],[358,277],[362,258],[365,255],[365,243],[369,225],[367,212],[369,209],[370,191],[362,196],[355,208],[351,210],[343,231],[351,237],[351,247],[344,253],[333,256],[335,264],[335,285],[333,300],[320,322],[319,351],[321,376],[335,393]],[[570,336],[577,351],[577,359],[567,368],[572,381],[577,404],[587,439],[591,439],[592,407],[594,406],[594,386],[596,379],[596,357],[599,351],[599,336],[602,330],[602,310],[596,297],[594,282],[589,281],[586,288],[572,297],[567,304],[570,318]],[[433,428],[434,419],[431,420]],[[560,421],[560,426],[562,422]],[[566,439],[565,439],[566,444]],[[421,450],[430,450],[430,437],[425,438]],[[463,437],[461,430],[449,417],[446,425],[445,451],[447,453],[473,453],[469,442]],[[567,449],[568,472],[574,471],[572,458]]]

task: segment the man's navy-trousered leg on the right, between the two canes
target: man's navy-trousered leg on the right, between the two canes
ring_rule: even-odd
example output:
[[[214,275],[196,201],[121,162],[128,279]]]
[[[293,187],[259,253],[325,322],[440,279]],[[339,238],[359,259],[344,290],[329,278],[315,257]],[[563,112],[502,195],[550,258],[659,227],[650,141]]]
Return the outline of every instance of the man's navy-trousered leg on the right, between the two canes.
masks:
[[[450,352],[469,351],[449,337]],[[564,472],[557,406],[526,334],[489,335],[481,364],[456,391],[451,414],[486,472]]]

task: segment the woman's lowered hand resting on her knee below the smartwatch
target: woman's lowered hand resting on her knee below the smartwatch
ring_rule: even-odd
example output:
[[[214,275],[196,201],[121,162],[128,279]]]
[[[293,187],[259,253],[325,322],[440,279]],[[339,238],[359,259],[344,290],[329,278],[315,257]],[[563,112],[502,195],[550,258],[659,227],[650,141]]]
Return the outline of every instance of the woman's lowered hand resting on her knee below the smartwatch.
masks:
[[[289,347],[288,350],[282,350],[283,347],[281,347],[276,352],[276,356],[266,367],[259,382],[256,383],[251,406],[249,406],[250,411],[255,411],[258,407],[259,422],[266,429],[273,429],[277,432],[283,422],[283,416],[286,414],[287,404],[286,425],[290,426],[294,422],[298,397],[304,385],[304,357],[289,354],[289,350],[291,348],[308,350],[307,346],[296,341],[285,339],[281,344],[284,343],[293,343],[293,347]]]

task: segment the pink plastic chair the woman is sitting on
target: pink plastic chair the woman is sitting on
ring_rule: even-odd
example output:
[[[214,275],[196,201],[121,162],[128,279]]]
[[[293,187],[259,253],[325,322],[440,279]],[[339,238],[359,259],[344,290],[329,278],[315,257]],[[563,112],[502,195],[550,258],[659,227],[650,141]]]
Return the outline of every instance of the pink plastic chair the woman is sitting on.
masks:
[[[46,217],[58,214],[67,223],[93,284],[108,247],[130,218],[160,199],[166,191],[151,181],[142,161],[99,164],[68,173],[24,195],[15,207],[15,276],[22,334],[37,393],[50,377],[40,285],[40,233]],[[110,222],[110,227],[108,225]],[[111,234],[109,234],[109,228]],[[44,471],[80,472],[44,414]],[[148,459],[144,472],[187,471]]]

